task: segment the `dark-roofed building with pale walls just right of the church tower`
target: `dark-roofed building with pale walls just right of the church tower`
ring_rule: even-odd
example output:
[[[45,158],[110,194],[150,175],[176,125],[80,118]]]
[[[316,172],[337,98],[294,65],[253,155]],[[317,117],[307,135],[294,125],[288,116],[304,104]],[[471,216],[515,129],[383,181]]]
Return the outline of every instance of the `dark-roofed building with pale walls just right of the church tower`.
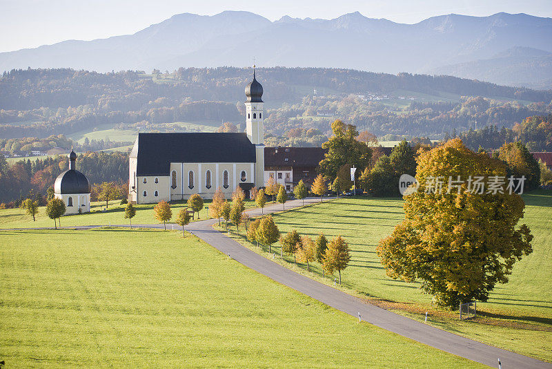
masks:
[[[274,178],[288,192],[299,180],[310,187],[318,175],[318,164],[325,153],[326,150],[321,147],[265,147],[264,182]]]

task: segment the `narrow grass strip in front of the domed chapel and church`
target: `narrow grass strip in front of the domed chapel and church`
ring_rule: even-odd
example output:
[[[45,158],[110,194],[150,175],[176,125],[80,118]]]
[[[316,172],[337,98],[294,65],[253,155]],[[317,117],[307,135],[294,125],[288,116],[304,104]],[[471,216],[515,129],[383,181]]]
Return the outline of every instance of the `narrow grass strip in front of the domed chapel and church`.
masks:
[[[204,200],[204,208],[199,211],[199,218],[207,218],[207,207],[210,200]],[[231,202],[230,202],[231,203]],[[171,202],[172,222],[175,221],[178,211],[186,207],[186,202]],[[246,208],[255,207],[255,202],[246,200]],[[124,218],[126,205],[119,205],[119,201],[111,201],[107,211],[102,211],[106,207],[106,202],[92,202],[90,204],[90,213],[77,214],[61,217],[61,227],[74,227],[77,225],[122,225],[128,224],[128,219]],[[157,223],[153,216],[153,207],[155,204],[135,205],[136,215],[132,218],[132,224],[152,224]],[[197,213],[195,214],[197,219]],[[26,215],[23,209],[3,209],[0,210],[0,229],[13,228],[40,228],[54,227],[54,220],[46,215],[46,207],[39,207],[37,220],[32,221],[32,217]]]

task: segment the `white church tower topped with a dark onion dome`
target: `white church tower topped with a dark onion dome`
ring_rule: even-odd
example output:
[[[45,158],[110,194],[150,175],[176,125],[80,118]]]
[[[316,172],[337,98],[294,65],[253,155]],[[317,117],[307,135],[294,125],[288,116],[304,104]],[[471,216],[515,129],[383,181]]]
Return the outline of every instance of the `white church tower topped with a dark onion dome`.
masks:
[[[263,126],[263,86],[255,78],[246,86],[246,133],[252,144],[255,144],[257,162],[255,164],[255,186],[264,186],[264,126]]]

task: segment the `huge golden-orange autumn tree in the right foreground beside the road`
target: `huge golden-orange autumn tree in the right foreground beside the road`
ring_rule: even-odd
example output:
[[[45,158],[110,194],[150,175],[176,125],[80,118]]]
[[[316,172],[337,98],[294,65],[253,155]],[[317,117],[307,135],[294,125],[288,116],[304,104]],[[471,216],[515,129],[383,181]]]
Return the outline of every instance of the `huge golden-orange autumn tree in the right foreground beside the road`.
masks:
[[[439,191],[440,176],[464,182],[449,187],[447,180]],[[420,280],[436,305],[449,308],[486,301],[496,283],[508,282],[515,261],[532,252],[529,227],[517,226],[525,206],[521,196],[506,185],[482,189],[470,176],[488,184],[506,176],[506,165],[458,139],[422,153],[420,187],[405,196],[405,219],[377,247],[388,276]]]

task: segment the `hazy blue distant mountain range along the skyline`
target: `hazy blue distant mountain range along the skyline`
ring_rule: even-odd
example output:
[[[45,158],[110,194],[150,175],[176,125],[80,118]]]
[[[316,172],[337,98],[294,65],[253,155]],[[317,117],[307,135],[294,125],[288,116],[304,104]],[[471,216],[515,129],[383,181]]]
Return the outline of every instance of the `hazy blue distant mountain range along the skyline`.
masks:
[[[63,41],[0,53],[0,71],[70,67],[97,71],[188,66],[318,66],[438,73],[511,86],[552,88],[552,19],[497,13],[442,15],[420,23],[371,19],[278,21],[250,12],[175,15],[134,35]]]

